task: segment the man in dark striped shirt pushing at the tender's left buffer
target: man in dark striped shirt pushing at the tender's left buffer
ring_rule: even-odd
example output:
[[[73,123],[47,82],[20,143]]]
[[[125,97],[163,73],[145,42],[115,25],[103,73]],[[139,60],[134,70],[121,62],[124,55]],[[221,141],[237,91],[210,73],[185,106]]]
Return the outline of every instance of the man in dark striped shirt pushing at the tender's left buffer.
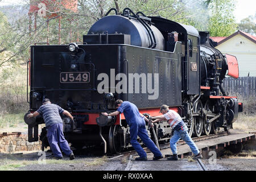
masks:
[[[62,109],[60,106],[56,104],[51,104],[51,101],[48,98],[44,98],[43,105],[39,107],[37,111],[33,114],[28,114],[27,117],[36,117],[39,114],[43,115],[44,122],[46,123],[47,129],[47,139],[51,150],[53,152],[53,156],[55,159],[63,159],[63,155],[61,154],[61,150],[69,156],[70,160],[75,159],[73,151],[68,145],[67,140],[63,134],[63,121],[60,117],[60,114],[67,115],[73,120],[73,116],[67,111]],[[59,145],[60,147],[59,147]]]

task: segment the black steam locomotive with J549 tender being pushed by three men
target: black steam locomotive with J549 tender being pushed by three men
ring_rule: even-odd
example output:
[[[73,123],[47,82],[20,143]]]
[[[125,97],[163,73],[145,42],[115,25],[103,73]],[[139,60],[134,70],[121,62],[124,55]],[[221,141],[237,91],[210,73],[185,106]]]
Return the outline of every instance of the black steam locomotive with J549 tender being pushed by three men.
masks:
[[[214,44],[209,32],[192,26],[129,8],[121,15],[110,9],[82,43],[31,46],[29,112],[49,98],[75,118],[62,116],[65,138],[73,147],[103,144],[104,152],[113,153],[131,147],[123,114],[100,114],[115,111],[117,99],[133,102],[151,116],[159,115],[160,105],[166,104],[196,137],[218,133],[220,127],[228,131],[242,103],[226,95],[222,81],[225,75],[237,78],[238,65],[236,57],[222,55]],[[42,117],[25,120],[28,140],[38,141]],[[172,135],[167,122],[155,124],[154,130],[159,143]],[[46,133],[43,128],[43,150],[48,146]],[[148,134],[155,140],[152,129]]]

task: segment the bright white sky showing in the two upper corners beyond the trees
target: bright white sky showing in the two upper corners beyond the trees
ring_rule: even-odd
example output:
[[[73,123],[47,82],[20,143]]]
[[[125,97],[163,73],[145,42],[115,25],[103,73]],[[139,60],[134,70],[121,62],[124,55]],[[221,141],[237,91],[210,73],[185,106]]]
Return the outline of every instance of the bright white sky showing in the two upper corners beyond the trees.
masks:
[[[196,0],[195,0],[196,1]],[[255,15],[256,13],[256,0],[235,0],[236,10],[234,11],[234,16],[236,17],[236,22],[239,23],[241,19],[247,18],[249,15]],[[0,0],[0,5],[19,5],[24,2],[24,0]]]

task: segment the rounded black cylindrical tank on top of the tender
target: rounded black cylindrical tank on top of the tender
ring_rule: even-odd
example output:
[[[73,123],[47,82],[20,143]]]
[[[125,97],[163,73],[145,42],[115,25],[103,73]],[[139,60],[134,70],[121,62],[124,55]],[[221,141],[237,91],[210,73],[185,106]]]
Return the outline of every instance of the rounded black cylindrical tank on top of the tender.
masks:
[[[138,17],[138,16],[137,16]],[[150,31],[150,27],[152,31]],[[88,31],[91,34],[126,34],[130,35],[130,44],[133,46],[165,49],[165,42],[162,33],[147,22],[131,16],[109,15],[99,19]],[[86,40],[84,40],[86,42]]]

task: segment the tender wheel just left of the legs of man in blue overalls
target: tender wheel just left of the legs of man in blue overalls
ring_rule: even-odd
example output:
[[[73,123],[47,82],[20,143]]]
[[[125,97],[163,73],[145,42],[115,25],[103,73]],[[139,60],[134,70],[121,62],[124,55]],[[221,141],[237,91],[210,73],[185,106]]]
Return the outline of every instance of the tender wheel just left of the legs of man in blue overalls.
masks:
[[[112,154],[121,152],[121,140],[118,135],[119,125],[112,125],[109,129],[109,149]]]

